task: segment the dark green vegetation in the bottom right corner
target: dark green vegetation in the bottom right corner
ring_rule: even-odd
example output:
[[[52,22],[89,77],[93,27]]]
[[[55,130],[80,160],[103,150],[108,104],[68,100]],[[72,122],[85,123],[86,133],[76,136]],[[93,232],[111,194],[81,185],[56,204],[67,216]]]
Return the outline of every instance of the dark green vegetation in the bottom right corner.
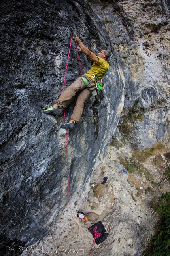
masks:
[[[143,256],[170,256],[170,192],[159,198],[156,210],[160,218],[157,234]]]

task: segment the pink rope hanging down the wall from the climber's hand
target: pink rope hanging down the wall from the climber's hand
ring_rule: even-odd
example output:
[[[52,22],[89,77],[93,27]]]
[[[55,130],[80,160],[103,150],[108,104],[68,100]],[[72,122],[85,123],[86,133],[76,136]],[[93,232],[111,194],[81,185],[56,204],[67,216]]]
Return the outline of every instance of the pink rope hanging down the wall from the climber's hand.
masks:
[[[71,49],[71,46],[72,46],[72,40],[73,40],[73,37],[71,38],[71,41],[70,41],[70,47],[69,47],[69,51],[68,51],[66,71],[65,71],[65,75],[64,75],[64,83],[63,83],[62,91],[64,91],[65,82],[66,82],[66,74],[67,74],[68,60],[69,60],[69,56],[70,56],[70,49]],[[80,60],[79,60],[79,54],[78,54],[76,42],[75,42],[75,45],[76,45],[77,58],[78,58],[78,61],[79,61],[79,67],[80,67],[81,76],[82,76],[83,74],[82,74],[82,70],[81,70],[81,64],[80,64]],[[64,122],[66,123],[65,109],[64,109]],[[67,129],[66,129],[66,150],[67,150],[67,180],[68,180],[67,205],[68,205],[70,185],[69,185],[69,177],[68,177],[68,133],[67,133]],[[67,208],[67,206],[66,206],[66,208]]]

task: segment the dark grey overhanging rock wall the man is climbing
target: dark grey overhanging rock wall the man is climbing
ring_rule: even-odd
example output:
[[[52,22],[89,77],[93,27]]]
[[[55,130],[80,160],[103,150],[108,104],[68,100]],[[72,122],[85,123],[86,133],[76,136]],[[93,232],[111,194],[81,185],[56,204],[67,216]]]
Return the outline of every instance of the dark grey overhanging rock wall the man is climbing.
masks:
[[[96,54],[111,50],[107,31],[87,2],[1,1],[0,169],[1,247],[43,237],[67,200],[63,112],[43,114],[62,92],[70,39],[76,33]],[[85,73],[91,61],[80,54]],[[111,72],[98,102],[85,103],[81,122],[68,134],[70,198],[91,176],[97,156],[119,120],[125,92],[122,67],[111,50]],[[121,64],[119,64],[121,66]],[[73,42],[66,87],[80,76]],[[128,74],[127,74],[128,76]],[[113,90],[114,87],[114,90]],[[76,96],[66,107],[69,118]],[[83,174],[83,175],[82,175]]]

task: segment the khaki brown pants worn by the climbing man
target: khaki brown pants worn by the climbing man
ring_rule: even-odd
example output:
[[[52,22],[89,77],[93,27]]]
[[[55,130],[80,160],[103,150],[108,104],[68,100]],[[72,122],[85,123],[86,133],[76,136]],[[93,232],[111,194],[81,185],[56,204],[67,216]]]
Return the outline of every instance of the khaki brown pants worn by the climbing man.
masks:
[[[76,101],[76,105],[73,110],[73,114],[70,119],[74,120],[76,123],[79,122],[81,115],[83,113],[84,103],[91,94],[96,89],[96,85],[92,79],[86,77],[89,84],[85,87],[85,83],[79,77],[74,83],[72,83],[69,87],[67,87],[61,94],[58,100],[55,101],[59,108],[64,108],[66,104],[72,99],[72,97],[79,92],[79,96]]]

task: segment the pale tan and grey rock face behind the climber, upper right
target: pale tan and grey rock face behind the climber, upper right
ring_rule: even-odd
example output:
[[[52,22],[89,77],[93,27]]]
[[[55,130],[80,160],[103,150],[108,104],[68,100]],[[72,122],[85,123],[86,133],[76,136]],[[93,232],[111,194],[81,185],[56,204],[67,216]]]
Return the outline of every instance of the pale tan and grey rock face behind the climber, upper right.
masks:
[[[169,3],[117,0],[102,5],[95,0],[92,8],[108,31],[116,58],[125,64],[123,73],[129,69],[130,79],[125,81],[126,96],[121,113],[123,117],[131,109],[135,121],[129,144],[143,150],[159,141],[169,148]],[[125,125],[125,120],[122,123]],[[125,136],[125,129],[122,136]]]

